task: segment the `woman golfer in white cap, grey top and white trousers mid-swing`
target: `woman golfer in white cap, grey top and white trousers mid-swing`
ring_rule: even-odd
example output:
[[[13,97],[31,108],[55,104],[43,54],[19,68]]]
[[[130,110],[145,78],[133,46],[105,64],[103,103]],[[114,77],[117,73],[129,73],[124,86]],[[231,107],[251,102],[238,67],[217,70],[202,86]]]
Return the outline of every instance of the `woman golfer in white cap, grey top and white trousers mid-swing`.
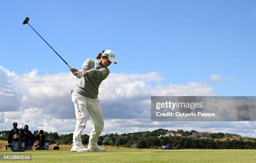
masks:
[[[97,55],[97,60],[87,59],[80,71],[70,69],[80,79],[72,93],[75,114],[77,118],[76,128],[73,135],[73,152],[105,151],[97,145],[98,138],[104,127],[104,120],[98,99],[100,83],[107,78],[110,71],[108,66],[115,61],[115,53],[112,50],[102,51]],[[88,148],[82,145],[81,135],[87,122],[87,112],[93,125]]]

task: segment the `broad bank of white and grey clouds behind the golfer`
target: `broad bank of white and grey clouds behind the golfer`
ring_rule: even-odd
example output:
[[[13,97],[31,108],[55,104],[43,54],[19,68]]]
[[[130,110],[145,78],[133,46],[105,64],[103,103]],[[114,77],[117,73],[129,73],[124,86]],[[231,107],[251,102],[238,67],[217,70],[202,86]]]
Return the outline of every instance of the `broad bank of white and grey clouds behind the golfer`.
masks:
[[[30,130],[44,129],[49,132],[71,133],[75,126],[74,104],[71,102],[71,89],[78,79],[71,73],[38,75],[34,69],[27,74],[16,76],[0,66],[0,130],[8,130],[14,121],[28,124]],[[3,79],[3,80],[2,80]],[[158,73],[148,74],[110,74],[100,85],[100,104],[105,118],[106,133],[128,133],[154,130],[158,128],[179,127],[188,130],[218,130],[216,122],[151,122],[151,96],[204,96],[215,92],[207,83],[191,82],[186,85],[159,84],[164,80]],[[147,82],[155,82],[153,87]],[[8,109],[5,109],[8,108]],[[208,125],[206,125],[208,124]],[[220,126],[216,125],[220,124]],[[254,123],[231,125],[242,130],[248,128],[247,135]],[[240,124],[240,123],[238,123]],[[251,125],[252,124],[252,125]],[[84,133],[92,129],[90,121]]]

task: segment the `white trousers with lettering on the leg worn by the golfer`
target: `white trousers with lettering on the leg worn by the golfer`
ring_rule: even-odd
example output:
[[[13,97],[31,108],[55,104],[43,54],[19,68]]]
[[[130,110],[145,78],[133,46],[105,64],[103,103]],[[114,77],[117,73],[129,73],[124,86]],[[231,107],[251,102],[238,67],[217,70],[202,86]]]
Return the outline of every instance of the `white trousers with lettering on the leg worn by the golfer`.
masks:
[[[73,145],[78,148],[82,147],[81,135],[87,122],[87,112],[91,117],[93,125],[90,133],[89,144],[92,148],[97,147],[97,141],[100,133],[103,131],[104,120],[100,108],[100,100],[84,97],[77,92],[72,93],[72,102],[74,102],[75,113],[77,118],[76,128],[73,134]]]

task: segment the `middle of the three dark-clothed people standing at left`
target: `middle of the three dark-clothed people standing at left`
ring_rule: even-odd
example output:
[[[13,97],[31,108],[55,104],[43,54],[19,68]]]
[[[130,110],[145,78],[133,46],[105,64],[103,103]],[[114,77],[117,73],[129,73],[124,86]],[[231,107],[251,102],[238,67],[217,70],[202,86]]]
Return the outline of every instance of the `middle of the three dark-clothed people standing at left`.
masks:
[[[31,131],[28,130],[28,125],[25,125],[23,128],[24,132],[21,134],[22,141],[25,142],[25,150],[33,150],[32,145],[34,145],[34,138],[35,135],[32,134]]]

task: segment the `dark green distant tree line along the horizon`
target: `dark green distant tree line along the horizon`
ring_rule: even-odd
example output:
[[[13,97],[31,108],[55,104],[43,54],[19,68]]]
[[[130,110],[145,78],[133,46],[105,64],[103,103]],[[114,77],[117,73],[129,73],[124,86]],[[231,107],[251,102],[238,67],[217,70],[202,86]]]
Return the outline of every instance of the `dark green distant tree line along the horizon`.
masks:
[[[1,131],[3,134],[0,140],[8,139],[9,131]],[[187,137],[192,135],[191,132],[181,132],[183,137],[160,137],[165,135],[167,130],[158,129],[152,132],[134,132],[128,134],[109,134],[100,136],[99,145],[112,145],[128,148],[159,148],[161,145],[170,145],[173,149],[256,149],[256,139],[251,138],[251,141],[244,140],[230,140],[215,141],[213,138],[224,138],[224,133],[210,133],[208,138],[191,138]],[[174,131],[173,131],[174,132]],[[38,131],[34,131],[36,135]],[[58,135],[57,132],[44,132],[46,135],[46,142],[60,143],[60,144],[72,144],[73,134]],[[227,134],[226,134],[227,135]],[[229,134],[230,135],[230,134]],[[239,135],[238,135],[239,136]],[[82,143],[89,143],[89,135],[82,135]]]

